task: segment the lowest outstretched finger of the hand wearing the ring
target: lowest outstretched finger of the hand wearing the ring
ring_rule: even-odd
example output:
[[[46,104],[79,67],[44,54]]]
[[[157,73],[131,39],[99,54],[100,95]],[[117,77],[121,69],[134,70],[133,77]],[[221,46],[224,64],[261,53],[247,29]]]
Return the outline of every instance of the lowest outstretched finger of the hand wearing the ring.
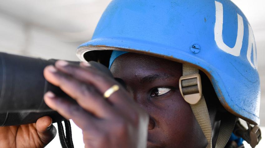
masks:
[[[73,104],[66,99],[56,97],[52,92],[44,95],[45,103],[53,110],[57,111],[66,119],[72,119],[80,128],[91,127],[94,125],[96,118],[86,112],[78,104]]]

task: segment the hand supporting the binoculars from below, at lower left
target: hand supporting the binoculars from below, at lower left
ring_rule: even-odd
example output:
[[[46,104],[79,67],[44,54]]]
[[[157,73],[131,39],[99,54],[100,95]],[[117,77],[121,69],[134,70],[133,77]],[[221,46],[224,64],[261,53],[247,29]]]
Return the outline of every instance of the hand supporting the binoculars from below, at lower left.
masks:
[[[36,123],[0,127],[1,147],[41,148],[46,146],[56,135],[56,128],[50,117],[45,116]]]

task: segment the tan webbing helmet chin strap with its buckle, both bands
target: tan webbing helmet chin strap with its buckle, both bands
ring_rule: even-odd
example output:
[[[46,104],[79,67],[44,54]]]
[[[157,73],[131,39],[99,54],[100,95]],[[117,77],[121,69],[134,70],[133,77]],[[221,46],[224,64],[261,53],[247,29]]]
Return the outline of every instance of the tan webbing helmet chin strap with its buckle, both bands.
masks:
[[[212,148],[212,126],[207,105],[202,95],[199,69],[183,64],[182,73],[183,76],[179,82],[181,95],[190,104],[190,108],[207,139],[207,148]],[[215,148],[223,148],[226,145],[233,132],[235,121],[236,117],[231,113],[222,117]]]

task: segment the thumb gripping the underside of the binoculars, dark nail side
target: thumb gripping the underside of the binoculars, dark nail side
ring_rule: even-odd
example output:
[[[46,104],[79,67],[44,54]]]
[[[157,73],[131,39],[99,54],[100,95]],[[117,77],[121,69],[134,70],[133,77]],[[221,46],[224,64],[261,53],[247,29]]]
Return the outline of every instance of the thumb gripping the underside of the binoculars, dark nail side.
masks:
[[[37,133],[41,142],[46,146],[56,135],[56,128],[52,125],[52,119],[49,116],[41,117],[36,122]]]

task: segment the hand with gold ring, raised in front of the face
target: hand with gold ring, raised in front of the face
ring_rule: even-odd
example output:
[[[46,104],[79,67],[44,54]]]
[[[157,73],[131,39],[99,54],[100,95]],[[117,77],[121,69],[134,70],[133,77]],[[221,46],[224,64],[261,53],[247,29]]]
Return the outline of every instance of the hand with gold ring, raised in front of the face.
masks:
[[[113,78],[87,63],[80,66],[57,61],[45,68],[46,80],[78,103],[47,92],[46,104],[82,129],[85,147],[146,147],[148,114]],[[119,90],[105,99],[104,92],[113,85]]]

